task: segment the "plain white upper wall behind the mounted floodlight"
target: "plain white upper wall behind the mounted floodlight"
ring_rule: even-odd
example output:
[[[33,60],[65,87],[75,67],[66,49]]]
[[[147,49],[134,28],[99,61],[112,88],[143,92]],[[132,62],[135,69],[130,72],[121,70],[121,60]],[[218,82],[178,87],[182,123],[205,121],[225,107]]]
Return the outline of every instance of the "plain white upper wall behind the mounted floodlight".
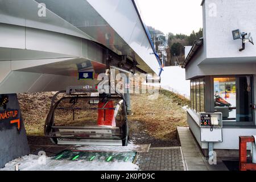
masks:
[[[256,56],[256,46],[246,43],[240,52],[241,40],[233,40],[232,31],[251,32],[256,38],[255,0],[205,0],[204,43],[207,58]]]

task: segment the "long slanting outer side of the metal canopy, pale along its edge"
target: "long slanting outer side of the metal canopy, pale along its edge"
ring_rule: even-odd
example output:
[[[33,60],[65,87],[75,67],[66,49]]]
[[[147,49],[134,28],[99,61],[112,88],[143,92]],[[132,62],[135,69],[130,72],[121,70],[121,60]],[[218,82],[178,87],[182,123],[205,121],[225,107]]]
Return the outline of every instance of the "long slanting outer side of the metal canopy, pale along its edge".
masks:
[[[36,0],[48,10],[72,24],[94,41],[118,55],[137,60],[146,72],[159,72],[161,67],[152,47],[136,3],[133,0]],[[144,64],[146,63],[146,64]],[[150,69],[147,68],[147,65]]]

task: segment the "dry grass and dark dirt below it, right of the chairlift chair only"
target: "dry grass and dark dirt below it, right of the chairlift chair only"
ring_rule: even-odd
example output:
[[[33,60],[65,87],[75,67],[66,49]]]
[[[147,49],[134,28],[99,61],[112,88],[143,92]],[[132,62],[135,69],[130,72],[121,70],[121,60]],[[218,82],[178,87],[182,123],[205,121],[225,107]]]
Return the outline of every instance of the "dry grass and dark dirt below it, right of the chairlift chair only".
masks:
[[[148,100],[148,96],[131,95],[131,140],[137,144],[151,143],[152,147],[179,146],[176,127],[187,126],[187,114],[182,107],[189,105],[189,101],[162,89],[157,100]]]

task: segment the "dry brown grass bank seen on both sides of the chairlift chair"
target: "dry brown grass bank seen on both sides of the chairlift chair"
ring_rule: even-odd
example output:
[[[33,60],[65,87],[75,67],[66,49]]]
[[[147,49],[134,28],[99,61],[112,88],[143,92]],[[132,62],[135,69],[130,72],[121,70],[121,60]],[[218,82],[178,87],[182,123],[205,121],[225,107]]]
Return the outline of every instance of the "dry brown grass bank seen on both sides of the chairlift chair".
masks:
[[[43,136],[43,127],[54,92],[18,94],[22,117],[28,135]],[[133,115],[130,121],[143,122],[152,137],[167,140],[176,135],[177,126],[186,126],[186,113],[181,107],[189,101],[166,90],[159,91],[157,100],[148,94],[132,94]]]

